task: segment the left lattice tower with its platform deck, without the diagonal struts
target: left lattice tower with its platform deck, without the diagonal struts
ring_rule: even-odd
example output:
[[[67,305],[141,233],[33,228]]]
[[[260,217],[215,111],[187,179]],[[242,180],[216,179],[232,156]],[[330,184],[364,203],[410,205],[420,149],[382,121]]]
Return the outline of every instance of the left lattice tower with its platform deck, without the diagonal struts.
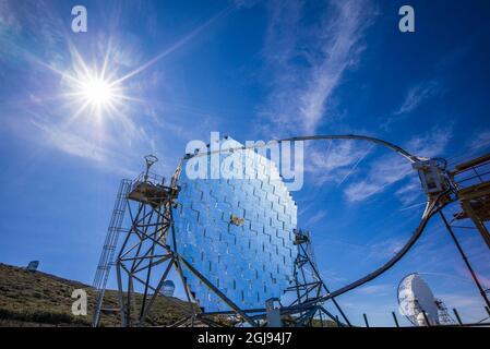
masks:
[[[136,193],[144,189],[153,190],[158,196],[136,200]],[[129,195],[131,228],[116,262],[123,326],[144,323],[171,267],[177,266],[174,252],[167,245],[172,200],[169,188],[139,181]],[[136,203],[135,209],[130,201]],[[162,266],[163,272],[159,270]],[[136,286],[142,290],[138,300],[140,306],[136,304]]]

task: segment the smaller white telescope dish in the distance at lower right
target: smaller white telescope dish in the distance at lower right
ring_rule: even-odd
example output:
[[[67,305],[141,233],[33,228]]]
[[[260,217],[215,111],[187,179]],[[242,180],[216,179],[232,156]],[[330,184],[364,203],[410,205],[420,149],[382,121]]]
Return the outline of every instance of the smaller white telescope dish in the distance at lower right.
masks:
[[[417,273],[407,275],[399,282],[398,304],[401,313],[415,326],[440,324],[434,294]]]

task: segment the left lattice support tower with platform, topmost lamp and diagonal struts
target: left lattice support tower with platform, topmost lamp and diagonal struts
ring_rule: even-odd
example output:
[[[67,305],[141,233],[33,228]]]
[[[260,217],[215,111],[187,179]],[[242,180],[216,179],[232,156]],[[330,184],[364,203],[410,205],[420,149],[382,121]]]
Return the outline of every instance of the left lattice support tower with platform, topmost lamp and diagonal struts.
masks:
[[[157,159],[147,157],[146,160],[146,172],[132,182],[127,197],[131,227],[116,261],[122,326],[146,324],[148,314],[172,268],[180,277],[189,304],[187,309],[189,315],[174,326],[186,324],[192,326],[196,320],[210,326],[223,325],[200,312],[182,268],[191,272],[219,297],[237,318],[255,326],[256,323],[246,312],[178,253],[172,207],[179,192],[177,180],[180,176],[180,167],[170,184],[165,185],[162,177],[150,173],[150,167]]]

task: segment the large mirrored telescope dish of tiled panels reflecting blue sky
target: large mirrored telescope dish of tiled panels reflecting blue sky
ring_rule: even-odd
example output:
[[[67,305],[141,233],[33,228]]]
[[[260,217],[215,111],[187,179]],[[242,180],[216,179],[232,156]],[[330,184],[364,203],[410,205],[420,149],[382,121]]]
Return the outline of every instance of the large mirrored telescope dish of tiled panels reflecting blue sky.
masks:
[[[219,144],[241,147],[231,139]],[[200,164],[207,166],[206,178],[193,174]],[[178,252],[241,309],[262,309],[267,299],[280,298],[292,280],[297,206],[275,164],[243,148],[190,157],[181,168],[174,208]],[[191,272],[182,272],[205,312],[229,310]]]

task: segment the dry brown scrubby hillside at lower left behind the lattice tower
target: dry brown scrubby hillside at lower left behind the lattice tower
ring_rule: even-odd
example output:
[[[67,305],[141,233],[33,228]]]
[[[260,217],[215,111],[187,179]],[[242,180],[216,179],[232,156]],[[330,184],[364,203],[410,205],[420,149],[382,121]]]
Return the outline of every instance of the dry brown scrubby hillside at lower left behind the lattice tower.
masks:
[[[71,313],[74,289],[87,292],[87,316]],[[95,296],[95,290],[82,282],[0,263],[0,326],[89,326]],[[148,322],[172,324],[186,315],[183,304],[176,298],[159,297]],[[106,292],[104,308],[118,308],[117,291]],[[119,326],[119,313],[103,314],[100,325]]]

